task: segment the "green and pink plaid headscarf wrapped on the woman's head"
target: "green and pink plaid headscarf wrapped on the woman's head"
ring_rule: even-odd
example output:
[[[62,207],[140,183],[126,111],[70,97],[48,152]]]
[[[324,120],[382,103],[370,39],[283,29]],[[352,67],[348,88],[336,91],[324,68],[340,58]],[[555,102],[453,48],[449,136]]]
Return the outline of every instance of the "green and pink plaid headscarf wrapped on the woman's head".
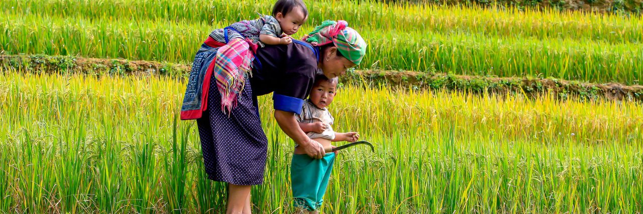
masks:
[[[366,54],[366,42],[359,35],[358,31],[349,28],[349,23],[343,20],[323,21],[320,26],[315,27],[311,33],[305,35],[303,40],[310,42],[313,46],[321,46],[333,43],[340,53],[350,62],[359,65],[364,54]]]

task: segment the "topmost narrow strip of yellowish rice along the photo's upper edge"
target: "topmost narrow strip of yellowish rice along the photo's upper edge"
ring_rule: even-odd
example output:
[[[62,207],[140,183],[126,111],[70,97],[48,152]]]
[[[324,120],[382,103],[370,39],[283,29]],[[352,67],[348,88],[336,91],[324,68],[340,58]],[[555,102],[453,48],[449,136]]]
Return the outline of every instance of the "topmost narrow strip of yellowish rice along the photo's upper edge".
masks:
[[[3,11],[60,15],[83,19],[132,19],[179,23],[231,23],[255,19],[257,12],[270,13],[275,1],[138,1],[138,0],[5,0]],[[478,33],[491,37],[585,38],[608,43],[643,41],[640,15],[615,15],[557,10],[480,8],[385,4],[374,1],[306,1],[309,28],[325,19],[343,19],[361,29]]]

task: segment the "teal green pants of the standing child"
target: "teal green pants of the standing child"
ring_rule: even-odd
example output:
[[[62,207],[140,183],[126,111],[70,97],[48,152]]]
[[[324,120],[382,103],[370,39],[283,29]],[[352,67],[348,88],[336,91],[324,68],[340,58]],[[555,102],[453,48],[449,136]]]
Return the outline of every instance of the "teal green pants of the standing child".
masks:
[[[335,153],[326,153],[321,159],[313,159],[307,154],[293,154],[290,179],[293,181],[294,206],[309,211],[321,207],[334,161]]]

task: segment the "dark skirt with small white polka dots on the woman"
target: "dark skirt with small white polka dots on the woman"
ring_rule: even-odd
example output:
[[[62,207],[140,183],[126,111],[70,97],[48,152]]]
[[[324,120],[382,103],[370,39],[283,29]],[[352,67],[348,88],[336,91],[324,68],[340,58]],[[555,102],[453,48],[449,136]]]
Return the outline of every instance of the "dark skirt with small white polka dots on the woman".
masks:
[[[230,117],[221,108],[217,81],[210,81],[208,110],[197,119],[208,177],[233,185],[260,185],[266,169],[267,138],[249,78]]]

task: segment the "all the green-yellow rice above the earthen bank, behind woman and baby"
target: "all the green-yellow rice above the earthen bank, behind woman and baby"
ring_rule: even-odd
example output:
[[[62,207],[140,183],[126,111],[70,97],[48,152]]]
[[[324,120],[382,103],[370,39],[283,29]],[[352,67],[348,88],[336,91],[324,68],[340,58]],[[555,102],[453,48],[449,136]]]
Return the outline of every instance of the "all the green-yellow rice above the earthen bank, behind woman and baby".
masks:
[[[185,1],[7,1],[0,17],[0,49],[5,54],[188,63],[194,47],[212,29],[256,17],[255,12],[268,11],[270,2],[194,6]],[[366,38],[370,49],[358,69],[629,85],[643,76],[640,16],[368,2],[356,8],[349,7],[350,2],[309,4],[311,20],[302,32],[321,19],[347,19]],[[343,9],[331,13],[330,8]]]

